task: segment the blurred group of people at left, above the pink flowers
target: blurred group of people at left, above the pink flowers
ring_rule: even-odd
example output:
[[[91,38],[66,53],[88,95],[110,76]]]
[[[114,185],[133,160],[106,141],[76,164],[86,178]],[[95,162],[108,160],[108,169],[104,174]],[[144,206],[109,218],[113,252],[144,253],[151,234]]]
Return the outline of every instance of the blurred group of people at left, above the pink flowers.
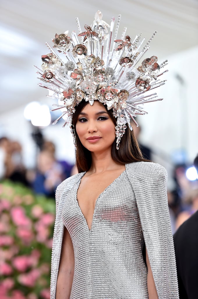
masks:
[[[35,169],[23,164],[22,147],[18,141],[0,138],[0,179],[9,179],[33,189],[35,193],[54,198],[57,186],[75,173],[75,167],[55,156],[55,145],[43,140],[39,145]]]

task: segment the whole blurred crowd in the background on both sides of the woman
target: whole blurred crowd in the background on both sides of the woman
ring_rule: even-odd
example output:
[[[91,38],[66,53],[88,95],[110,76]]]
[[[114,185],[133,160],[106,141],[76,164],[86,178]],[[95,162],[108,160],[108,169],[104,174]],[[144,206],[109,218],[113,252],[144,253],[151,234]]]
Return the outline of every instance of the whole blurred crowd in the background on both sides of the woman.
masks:
[[[136,130],[138,139],[140,129]],[[35,137],[35,136],[34,136]],[[77,173],[74,165],[56,158],[52,141],[38,138],[38,155],[35,169],[27,169],[23,164],[22,147],[18,141],[0,138],[0,179],[9,179],[32,188],[35,193],[55,198],[55,190],[64,179]],[[145,158],[152,160],[151,149],[140,144]],[[154,161],[155,162],[155,161]],[[168,205],[173,233],[198,210],[198,180],[191,182],[185,174],[185,165],[175,165],[172,178],[174,187],[168,190]]]

